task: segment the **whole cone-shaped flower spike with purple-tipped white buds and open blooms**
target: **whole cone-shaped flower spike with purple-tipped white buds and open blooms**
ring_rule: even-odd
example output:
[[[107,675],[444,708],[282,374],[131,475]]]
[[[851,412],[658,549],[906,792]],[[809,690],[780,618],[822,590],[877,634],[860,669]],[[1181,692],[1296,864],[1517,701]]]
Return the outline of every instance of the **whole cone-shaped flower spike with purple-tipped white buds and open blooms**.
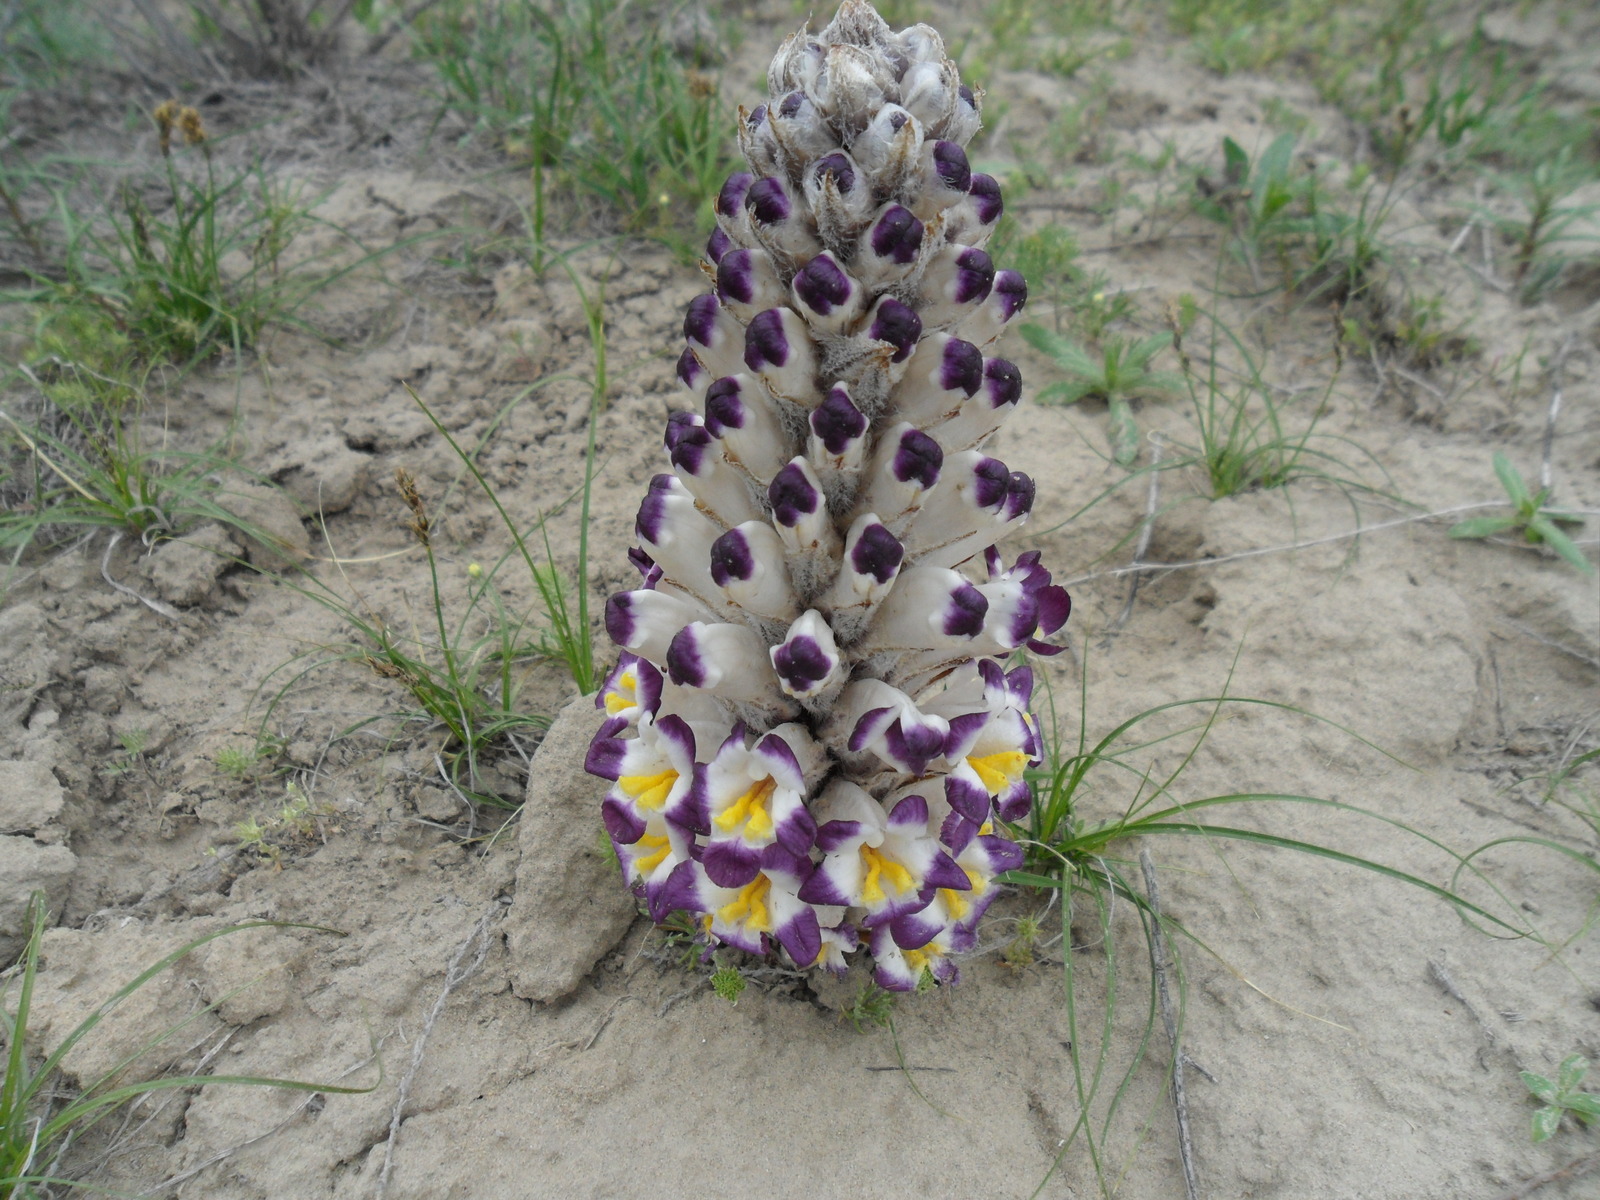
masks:
[[[928,26],[846,0],[802,27],[739,112],[749,163],[715,202],[715,290],[678,378],[613,595],[622,658],[590,773],[629,886],[709,949],[955,978],[1000,835],[1038,762],[1026,666],[1070,608],[1038,554],[1006,565],[1034,483],[982,451],[1021,374],[990,349],[1027,298],[982,246],[1002,200]]]

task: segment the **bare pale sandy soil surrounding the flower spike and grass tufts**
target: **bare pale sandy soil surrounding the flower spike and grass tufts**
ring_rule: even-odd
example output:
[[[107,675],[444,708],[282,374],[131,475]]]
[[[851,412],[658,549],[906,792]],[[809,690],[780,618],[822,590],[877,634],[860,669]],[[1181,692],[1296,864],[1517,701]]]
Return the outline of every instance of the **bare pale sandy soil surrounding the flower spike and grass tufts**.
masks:
[[[786,6],[771,8],[782,11],[752,32],[750,64],[787,21]],[[1531,21],[1506,37],[1568,53],[1570,42],[1541,29]],[[1587,45],[1579,67],[1592,77]],[[755,94],[750,64],[730,69],[730,94]],[[1216,78],[1165,37],[1141,40],[1107,70],[1102,133],[1118,147],[1171,139],[1190,162],[1214,163],[1222,136],[1264,144],[1266,110],[1282,102],[1310,117],[1310,152],[1355,149],[1349,123],[1307,86]],[[1005,114],[979,165],[1005,168],[1010,138],[1042,138],[1090,86],[1090,74],[997,72],[989,93]],[[304,90],[282,102],[296,114],[325,104]],[[363,122],[382,112],[363,102]],[[318,211],[370,245],[462,224],[493,229],[515,211],[520,176],[429,157],[426,123],[405,118],[403,106],[394,112],[381,149],[355,149],[334,166],[307,152],[275,170],[326,187]],[[338,128],[318,128],[338,141]],[[368,131],[352,146],[378,142]],[[1027,218],[1070,222],[1114,286],[1136,290],[1138,323],[1162,328],[1168,301],[1214,283],[1219,234],[1173,208],[1150,216],[1128,200],[1104,211],[1098,202],[1118,176],[1146,200],[1179,187],[1176,174],[1150,182],[1118,162],[1075,166],[1064,190],[1029,197]],[[1550,299],[1522,307],[1450,253],[1467,203],[1445,184],[1408,190],[1392,222],[1403,264],[1394,286],[1440,293],[1475,347],[1437,366],[1350,360],[1328,400],[1322,429],[1370,451],[1373,480],[1387,472],[1389,490],[1419,506],[1366,499],[1368,525],[1494,499],[1496,450],[1536,474],[1552,394],[1538,362],[1563,346],[1565,406],[1549,462],[1565,504],[1600,509],[1600,267],[1571,272]],[[603,597],[630,571],[634,510],[662,462],[661,422],[677,403],[680,314],[702,283],[653,246],[576,261],[587,286],[603,288],[613,363],[589,525]],[[486,475],[531,522],[582,478],[590,349],[578,293],[560,272],[539,280],[517,262],[445,270],[424,251],[403,251],[386,269],[403,285],[398,301],[374,278],[352,278],[325,301],[326,320],[360,330],[365,349],[278,333],[242,378],[190,378],[154,416],[186,445],[235,427],[245,466],[282,488],[232,485],[253,498],[258,523],[341,594],[411,622],[424,611],[426,571],[392,488],[397,466],[414,472],[443,518],[454,597],[467,563],[491,560],[502,538],[405,384],[462,442],[488,437]],[[1218,306],[1248,330],[1269,378],[1320,394],[1331,370],[1322,310],[1280,293]],[[1048,318],[1038,306],[1030,315]],[[1034,387],[1051,378],[1014,334],[1008,347]],[[1509,365],[1523,352],[1517,378]],[[560,373],[571,378],[530,392]],[[1168,454],[1194,440],[1179,402],[1144,405],[1141,422]],[[1534,834],[1595,851],[1576,822],[1531,803],[1536,789],[1510,787],[1597,744],[1592,578],[1528,547],[1451,541],[1448,522],[1339,538],[1355,514],[1326,485],[1208,502],[1194,478],[1168,474],[1147,560],[1214,562],[1147,578],[1118,627],[1130,581],[1106,571],[1131,557],[1146,485],[1067,522],[1123,474],[1104,458],[1102,426],[1090,406],[1024,400],[992,448],[1038,480],[1034,525],[1018,547],[1043,550],[1058,579],[1078,581],[1074,653],[1048,666],[1066,734],[1077,730],[1085,672],[1091,736],[1226,685],[1301,706],[1405,763],[1331,725],[1237,710],[1189,765],[1184,797],[1325,797],[1458,850]],[[574,510],[550,533],[571,573]],[[104,546],[37,557],[0,610],[0,758],[43,766],[62,789],[59,811],[21,834],[53,850],[61,907],[45,942],[42,1043],[110,984],[222,922],[307,922],[339,934],[259,930],[216,942],[118,1011],[67,1070],[93,1078],[118,1048],[250,984],[141,1070],[192,1067],[222,1040],[210,1059],[218,1072],[365,1086],[381,1054],[382,1078],[365,1094],[309,1104],[298,1093],[221,1086],[168,1096],[134,1114],[101,1182],[213,1200],[1099,1192],[1082,1134],[1058,1155],[1078,1120],[1069,1046],[1077,1040],[1093,1064],[1104,1042],[1114,1078],[1139,1048],[1150,971],[1131,912],[1114,914],[1110,946],[1090,936],[1090,923],[1051,944],[1062,934],[1053,909],[1038,962],[1013,970],[998,950],[1046,898],[1006,899],[962,984],[896,1010],[910,1067],[899,1070],[886,1032],[858,1034],[838,1018],[838,989],[757,978],[730,1006],[632,917],[594,848],[600,787],[574,752],[592,709],[562,709],[573,690],[554,670],[525,694],[530,710],[565,714],[533,758],[526,819],[483,837],[493,813],[472,818],[445,789],[437,733],[392,718],[346,733],[405,710],[392,685],[333,662],[286,686],[298,667],[285,664],[326,658],[328,646],[349,645],[349,630],[285,586],[291,576],[275,573],[270,555],[254,550],[256,571],[181,544],[150,554],[118,546],[106,563],[112,578],[176,605],[168,619],[106,586]],[[1254,550],[1267,552],[1246,555]],[[507,602],[528,603],[526,582],[506,579]],[[282,755],[229,778],[218,752],[250,744],[274,699],[269,731],[283,739]],[[118,734],[134,731],[144,752],[118,766]],[[1157,752],[1166,770],[1179,757]],[[520,797],[526,774],[512,760],[499,782]],[[27,778],[50,790],[37,773]],[[288,781],[312,798],[306,834],[285,838],[278,861],[242,851],[237,822],[275,813]],[[1107,781],[1082,816],[1099,819],[1125,802]],[[1277,805],[1227,822],[1450,878],[1445,854],[1378,821]],[[62,846],[72,859],[54,853]],[[1182,838],[1149,848],[1166,912],[1205,942],[1184,950],[1182,1032],[1197,1064],[1187,1096],[1203,1195],[1488,1200],[1594,1149],[1592,1134],[1571,1128],[1531,1146],[1517,1077],[1552,1070],[1573,1051],[1600,1058],[1592,936],[1552,962],[1531,941],[1488,938],[1413,888],[1328,859]],[[1547,853],[1507,848],[1483,866],[1554,938],[1578,930],[1595,902],[1594,870]],[[1077,1032],[1062,946],[1078,982]],[[1106,1018],[1114,970],[1117,1005]],[[1102,1170],[1120,1195],[1182,1195],[1168,1066],[1157,1034],[1106,1139]],[[1104,1120],[1099,1104],[1094,1122]],[[104,1149],[86,1147],[85,1162]],[[1573,1178],[1539,1195],[1573,1200],[1595,1187],[1595,1176]]]

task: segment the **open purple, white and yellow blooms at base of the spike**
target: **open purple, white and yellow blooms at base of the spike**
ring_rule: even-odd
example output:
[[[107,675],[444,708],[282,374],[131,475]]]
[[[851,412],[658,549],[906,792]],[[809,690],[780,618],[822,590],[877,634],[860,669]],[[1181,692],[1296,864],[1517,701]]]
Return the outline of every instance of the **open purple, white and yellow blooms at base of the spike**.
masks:
[[[974,944],[995,877],[1022,861],[995,818],[1029,810],[1032,670],[978,659],[917,704],[856,686],[867,694],[846,693],[830,717],[853,723],[845,744],[915,774],[882,798],[835,771],[805,725],[755,736],[624,654],[598,694],[605,723],[586,763],[611,781],[605,827],[651,918],[691,914],[709,947],[834,971],[866,947],[882,987],[954,982],[952,955]]]

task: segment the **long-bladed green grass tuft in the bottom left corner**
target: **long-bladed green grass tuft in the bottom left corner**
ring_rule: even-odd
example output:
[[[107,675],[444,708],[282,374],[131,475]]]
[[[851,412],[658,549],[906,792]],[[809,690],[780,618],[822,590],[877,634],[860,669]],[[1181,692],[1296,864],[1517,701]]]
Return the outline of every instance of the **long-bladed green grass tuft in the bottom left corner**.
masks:
[[[117,989],[104,1003],[78,1022],[42,1062],[35,1064],[37,1054],[34,1046],[29,1045],[27,1022],[34,1002],[34,986],[38,978],[40,946],[45,939],[45,894],[42,891],[34,893],[29,906],[29,938],[22,960],[0,976],[0,1032],[3,1032],[6,1043],[5,1080],[0,1082],[0,1200],[43,1200],[48,1195],[58,1195],[56,1189],[61,1187],[98,1190],[75,1182],[66,1173],[67,1168],[62,1163],[75,1141],[83,1138],[123,1102],[141,1096],[182,1088],[200,1088],[208,1083],[282,1088],[301,1093],[366,1094],[382,1083],[382,1064],[379,1064],[378,1082],[370,1088],[347,1088],[336,1083],[309,1083],[258,1075],[166,1075],[144,1083],[118,1082],[139,1059],[229,998],[218,997],[210,1005],[197,1008],[166,1032],[150,1038],[99,1078],[90,1080],[75,1096],[62,1086],[59,1078],[61,1061],[78,1042],[90,1037],[101,1019],[117,1005],[206,942],[261,928],[301,928],[334,933],[334,930],[318,925],[246,922],[195,938]],[[18,987],[14,1005],[8,1003],[13,984]]]

